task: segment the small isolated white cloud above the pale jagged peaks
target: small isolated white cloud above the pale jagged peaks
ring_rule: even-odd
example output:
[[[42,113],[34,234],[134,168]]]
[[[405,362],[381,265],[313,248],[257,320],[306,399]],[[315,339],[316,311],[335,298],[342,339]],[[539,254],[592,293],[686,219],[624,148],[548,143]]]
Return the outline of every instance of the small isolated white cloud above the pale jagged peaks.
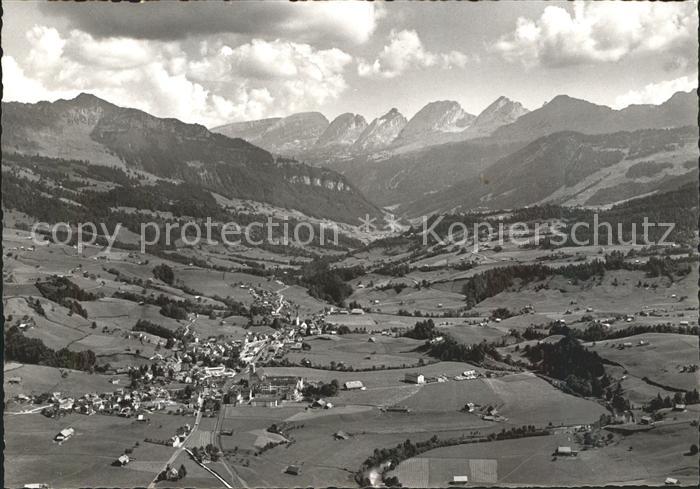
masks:
[[[432,53],[423,47],[418,33],[413,30],[391,31],[389,44],[384,46],[373,62],[359,60],[357,74],[380,78],[395,78],[400,74],[421,68],[464,68],[469,58],[459,51]]]

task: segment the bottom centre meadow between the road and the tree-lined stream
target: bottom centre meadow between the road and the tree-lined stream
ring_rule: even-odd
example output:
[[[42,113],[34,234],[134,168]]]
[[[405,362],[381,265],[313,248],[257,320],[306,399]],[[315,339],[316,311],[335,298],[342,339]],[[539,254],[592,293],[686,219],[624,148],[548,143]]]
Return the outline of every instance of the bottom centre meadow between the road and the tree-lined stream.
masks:
[[[227,423],[234,435],[222,437],[222,441],[226,447],[238,446],[239,455],[231,460],[250,486],[354,486],[353,473],[375,448],[393,446],[406,438],[427,439],[433,433],[460,436],[485,426],[481,420],[474,422],[459,413],[402,415],[376,409],[351,412],[334,408],[330,414],[303,417],[303,410],[293,412],[294,408],[247,407],[227,411]],[[244,452],[256,440],[257,430],[284,419],[297,426],[289,432],[290,445],[275,447],[257,457]],[[349,433],[350,439],[334,439],[333,433],[339,429]],[[300,465],[302,473],[285,474],[290,464]]]

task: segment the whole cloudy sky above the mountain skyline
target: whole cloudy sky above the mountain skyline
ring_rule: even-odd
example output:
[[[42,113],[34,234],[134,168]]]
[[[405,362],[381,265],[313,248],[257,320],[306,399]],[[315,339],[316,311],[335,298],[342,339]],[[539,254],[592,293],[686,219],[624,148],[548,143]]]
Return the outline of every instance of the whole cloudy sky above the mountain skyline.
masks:
[[[93,93],[207,127],[697,87],[696,2],[3,2],[3,101]]]

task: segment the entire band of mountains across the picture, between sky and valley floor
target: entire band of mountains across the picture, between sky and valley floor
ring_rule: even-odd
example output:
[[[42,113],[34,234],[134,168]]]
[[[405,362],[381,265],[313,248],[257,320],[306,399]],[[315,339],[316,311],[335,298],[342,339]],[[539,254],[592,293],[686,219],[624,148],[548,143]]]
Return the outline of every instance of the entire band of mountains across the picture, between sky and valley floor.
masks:
[[[552,202],[599,206],[697,175],[694,92],[621,110],[560,95],[528,111],[499,97],[480,114],[454,101],[411,119],[318,112],[212,130],[95,96],[2,104],[4,153],[116,166],[219,195],[357,223]],[[380,207],[378,207],[380,206]]]

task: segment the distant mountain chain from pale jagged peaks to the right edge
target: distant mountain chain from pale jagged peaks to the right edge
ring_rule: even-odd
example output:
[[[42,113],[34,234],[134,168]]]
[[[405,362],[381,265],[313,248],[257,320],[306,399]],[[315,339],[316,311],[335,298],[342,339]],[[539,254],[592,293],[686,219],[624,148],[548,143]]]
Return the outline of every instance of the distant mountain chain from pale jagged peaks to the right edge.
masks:
[[[358,156],[382,160],[390,155],[474,139],[490,139],[489,144],[530,142],[557,131],[606,134],[692,125],[697,119],[694,97],[692,93],[678,92],[661,105],[631,105],[615,110],[558,95],[539,109],[528,111],[521,103],[501,96],[476,116],[467,113],[458,102],[440,100],[426,104],[410,119],[397,108],[369,124],[357,114],[342,114],[331,123],[318,112],[305,112],[227,124],[212,131],[245,139],[275,154],[326,165]]]

